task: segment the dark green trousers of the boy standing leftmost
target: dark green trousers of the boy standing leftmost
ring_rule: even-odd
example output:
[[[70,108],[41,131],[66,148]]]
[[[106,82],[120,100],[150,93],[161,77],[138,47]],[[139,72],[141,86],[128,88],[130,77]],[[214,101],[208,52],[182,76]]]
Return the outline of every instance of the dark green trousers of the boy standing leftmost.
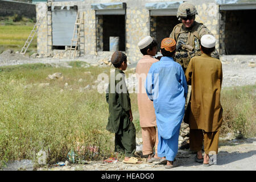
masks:
[[[136,129],[133,122],[122,131],[121,135],[115,134],[115,152],[123,154],[126,157],[134,156],[136,151]]]

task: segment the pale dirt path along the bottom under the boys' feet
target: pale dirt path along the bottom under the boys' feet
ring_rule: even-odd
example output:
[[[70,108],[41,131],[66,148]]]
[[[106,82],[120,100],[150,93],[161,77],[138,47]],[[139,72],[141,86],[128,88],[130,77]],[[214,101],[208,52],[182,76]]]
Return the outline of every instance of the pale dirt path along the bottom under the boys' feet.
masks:
[[[93,161],[89,164],[69,164],[62,167],[38,168],[39,171],[226,171],[256,170],[256,138],[246,140],[234,139],[220,142],[217,165],[204,167],[195,162],[195,154],[179,150],[175,164],[177,167],[166,169],[163,165],[142,162],[141,164],[104,163]]]

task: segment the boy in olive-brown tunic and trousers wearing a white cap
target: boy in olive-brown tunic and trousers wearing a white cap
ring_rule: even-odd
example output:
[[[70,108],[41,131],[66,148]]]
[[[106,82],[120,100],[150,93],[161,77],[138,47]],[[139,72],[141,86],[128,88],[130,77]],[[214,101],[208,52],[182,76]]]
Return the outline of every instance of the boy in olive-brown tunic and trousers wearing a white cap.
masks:
[[[197,151],[196,161],[210,166],[209,154],[218,153],[218,135],[222,124],[222,106],[220,92],[222,83],[221,61],[210,57],[214,51],[216,39],[212,35],[201,38],[201,56],[189,61],[185,76],[191,84],[191,108],[188,123],[190,128],[189,144]],[[204,140],[205,155],[201,148]]]

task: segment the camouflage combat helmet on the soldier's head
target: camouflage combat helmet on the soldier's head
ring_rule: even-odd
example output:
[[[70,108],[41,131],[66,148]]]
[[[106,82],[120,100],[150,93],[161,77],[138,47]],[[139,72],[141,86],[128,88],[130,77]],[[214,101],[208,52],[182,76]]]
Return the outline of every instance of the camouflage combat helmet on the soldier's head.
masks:
[[[180,20],[181,18],[186,18],[187,16],[193,16],[198,14],[196,11],[195,5],[191,3],[184,2],[182,3],[177,10],[177,18]]]

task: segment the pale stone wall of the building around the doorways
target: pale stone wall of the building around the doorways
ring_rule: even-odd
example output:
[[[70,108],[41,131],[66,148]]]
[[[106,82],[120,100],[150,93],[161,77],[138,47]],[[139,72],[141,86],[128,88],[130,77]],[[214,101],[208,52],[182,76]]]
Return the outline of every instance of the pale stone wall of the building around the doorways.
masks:
[[[171,1],[171,0],[169,0]],[[90,0],[90,1],[82,1],[82,2],[53,2],[54,6],[78,6],[78,11],[84,12],[84,39],[81,39],[81,43],[84,42],[84,44],[81,44],[80,49],[84,51],[84,56],[88,58],[95,58],[102,59],[102,57],[110,57],[112,55],[111,52],[103,51],[103,44],[101,40],[103,39],[102,36],[102,30],[101,24],[102,17],[96,16],[95,10],[91,9],[91,5],[93,3],[110,3],[110,2],[119,2],[119,1],[113,1],[113,0]],[[164,2],[163,0],[138,0],[136,3],[134,1],[128,1],[124,0],[122,2],[126,3],[126,45],[125,45],[125,53],[127,55],[127,59],[131,63],[137,62],[139,59],[141,59],[142,54],[138,49],[138,42],[144,36],[151,35],[151,36],[160,36],[160,34],[167,34],[162,36],[168,36],[170,35],[171,30],[160,30],[162,33],[158,33],[152,30],[152,28],[157,28],[157,24],[155,23],[154,18],[152,16],[150,17],[150,11],[146,9],[145,4],[150,2]],[[217,40],[219,39],[218,36],[218,20],[219,20],[219,14],[218,14],[218,5],[216,5],[214,0],[192,0],[190,1],[194,5],[196,5],[196,9],[199,12],[199,15],[196,16],[197,22],[203,22],[205,26],[209,28],[209,30],[213,33],[214,36],[216,36]],[[38,5],[37,5],[37,10]],[[159,27],[161,26],[160,22],[163,22],[161,18],[159,18]],[[163,18],[162,18],[163,19]],[[96,20],[98,23],[96,23]],[[151,21],[152,20],[152,21]],[[175,20],[175,17],[174,19]],[[52,53],[51,50],[51,33],[49,32],[51,28],[51,20],[48,18],[46,20],[48,23],[48,28],[43,26],[40,27],[39,37],[38,37],[38,52],[49,54]],[[96,27],[97,26],[97,27]],[[170,25],[171,27],[174,26],[174,24]],[[151,30],[150,30],[151,27]],[[96,31],[97,31],[97,37],[96,37]],[[44,35],[48,35],[48,39],[44,39]],[[161,39],[161,38],[158,38]],[[47,41],[46,41],[47,40]],[[102,40],[103,41],[103,40]],[[158,40],[158,43],[160,40]],[[47,43],[46,43],[47,42]],[[218,41],[216,48],[218,48]],[[101,58],[99,58],[101,57]]]

